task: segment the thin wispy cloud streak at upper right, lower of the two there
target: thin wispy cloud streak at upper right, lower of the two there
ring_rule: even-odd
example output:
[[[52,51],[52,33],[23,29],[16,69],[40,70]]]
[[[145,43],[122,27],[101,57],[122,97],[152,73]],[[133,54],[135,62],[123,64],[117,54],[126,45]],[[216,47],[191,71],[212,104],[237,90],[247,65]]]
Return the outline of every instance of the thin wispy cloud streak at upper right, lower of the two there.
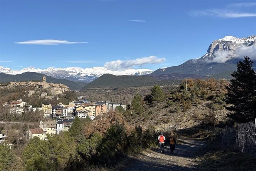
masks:
[[[256,13],[239,13],[239,12],[233,12],[228,10],[220,10],[220,9],[192,11],[190,14],[194,17],[201,17],[201,16],[212,16],[212,17],[221,17],[221,18],[256,17]]]

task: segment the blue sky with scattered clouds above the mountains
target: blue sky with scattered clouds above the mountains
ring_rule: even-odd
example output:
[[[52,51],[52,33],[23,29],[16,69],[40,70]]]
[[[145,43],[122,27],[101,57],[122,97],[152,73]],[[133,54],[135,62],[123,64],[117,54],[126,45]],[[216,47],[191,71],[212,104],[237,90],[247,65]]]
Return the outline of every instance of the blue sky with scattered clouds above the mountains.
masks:
[[[256,0],[1,0],[0,66],[177,66],[256,34]]]

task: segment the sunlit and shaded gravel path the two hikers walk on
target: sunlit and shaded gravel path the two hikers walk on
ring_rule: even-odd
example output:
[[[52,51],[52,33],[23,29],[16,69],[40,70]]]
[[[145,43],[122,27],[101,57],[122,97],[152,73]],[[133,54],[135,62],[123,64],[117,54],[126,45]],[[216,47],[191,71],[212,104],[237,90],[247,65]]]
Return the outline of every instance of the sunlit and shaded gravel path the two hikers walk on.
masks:
[[[195,158],[202,153],[206,144],[199,140],[179,138],[174,154],[165,145],[165,154],[159,150],[148,150],[131,157],[125,171],[200,171]]]

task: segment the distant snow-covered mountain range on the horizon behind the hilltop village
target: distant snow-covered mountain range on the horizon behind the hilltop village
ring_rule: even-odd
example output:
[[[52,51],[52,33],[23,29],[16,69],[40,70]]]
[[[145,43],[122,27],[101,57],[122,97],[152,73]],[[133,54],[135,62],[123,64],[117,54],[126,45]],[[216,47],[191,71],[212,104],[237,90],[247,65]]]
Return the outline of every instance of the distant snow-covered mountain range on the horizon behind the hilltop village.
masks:
[[[129,76],[141,76],[145,74],[151,74],[153,71],[148,69],[128,69],[124,71],[112,71],[104,67],[93,67],[93,68],[79,68],[79,67],[68,67],[68,68],[23,68],[22,70],[16,71],[10,68],[4,68],[0,66],[0,73],[5,74],[22,74],[25,72],[34,72],[45,74],[46,76],[52,76],[59,79],[67,79],[70,81],[83,81],[91,82],[96,78],[104,74],[113,74],[116,76],[129,75]]]

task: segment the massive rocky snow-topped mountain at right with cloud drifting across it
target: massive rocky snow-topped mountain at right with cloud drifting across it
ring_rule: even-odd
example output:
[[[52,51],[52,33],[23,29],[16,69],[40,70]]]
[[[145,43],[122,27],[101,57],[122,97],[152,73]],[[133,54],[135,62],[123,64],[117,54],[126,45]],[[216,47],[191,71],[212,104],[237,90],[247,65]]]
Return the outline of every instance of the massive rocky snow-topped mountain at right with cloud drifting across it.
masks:
[[[197,59],[187,60],[185,63],[167,68],[160,68],[154,74],[197,74],[201,76],[214,76],[220,73],[230,73],[236,70],[238,60],[249,56],[256,61],[256,35],[237,38],[226,36],[214,40],[206,54]]]

